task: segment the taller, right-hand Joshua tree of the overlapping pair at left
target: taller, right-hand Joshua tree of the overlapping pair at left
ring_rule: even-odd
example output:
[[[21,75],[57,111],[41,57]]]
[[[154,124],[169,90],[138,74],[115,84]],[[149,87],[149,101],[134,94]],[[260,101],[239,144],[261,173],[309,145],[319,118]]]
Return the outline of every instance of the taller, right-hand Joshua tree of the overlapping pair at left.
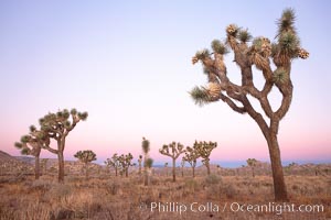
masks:
[[[65,141],[70,132],[76,127],[79,121],[87,119],[87,112],[78,112],[76,109],[71,111],[64,109],[56,113],[47,113],[39,120],[41,131],[49,138],[56,141],[56,148],[45,145],[44,148],[53,154],[57,154],[58,158],[58,183],[64,182],[64,157]]]

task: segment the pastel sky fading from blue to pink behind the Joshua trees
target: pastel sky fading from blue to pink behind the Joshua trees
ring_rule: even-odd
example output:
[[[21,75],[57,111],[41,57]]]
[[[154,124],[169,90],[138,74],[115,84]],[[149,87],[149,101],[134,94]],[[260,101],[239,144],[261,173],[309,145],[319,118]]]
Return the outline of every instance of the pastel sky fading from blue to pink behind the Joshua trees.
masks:
[[[13,146],[29,125],[58,109],[88,111],[67,138],[65,157],[93,150],[102,163],[114,153],[141,153],[162,144],[216,141],[214,162],[268,161],[257,124],[225,103],[200,108],[188,91],[204,85],[197,50],[224,40],[236,23],[274,40],[285,8],[297,13],[307,61],[292,64],[291,108],[280,123],[284,161],[331,162],[330,1],[0,1],[0,148]],[[228,75],[238,68],[227,55]],[[261,81],[261,74],[254,77]],[[279,94],[271,94],[275,106]],[[42,156],[55,156],[44,152]]]

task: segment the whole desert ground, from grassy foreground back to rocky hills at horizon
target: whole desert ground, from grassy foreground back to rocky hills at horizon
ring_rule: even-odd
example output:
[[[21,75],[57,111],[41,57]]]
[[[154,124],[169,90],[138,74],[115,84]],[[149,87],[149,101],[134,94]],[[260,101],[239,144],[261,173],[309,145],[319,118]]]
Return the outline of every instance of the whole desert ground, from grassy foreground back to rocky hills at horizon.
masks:
[[[287,205],[295,211],[274,202],[267,163],[255,167],[255,177],[247,166],[212,165],[210,176],[201,166],[195,178],[190,167],[178,167],[175,183],[171,167],[156,167],[150,186],[137,167],[125,177],[90,164],[88,179],[82,163],[66,162],[65,167],[64,184],[57,183],[56,160],[49,160],[35,180],[31,160],[1,152],[0,219],[331,219],[331,164],[285,167]],[[274,210],[257,210],[261,206]]]

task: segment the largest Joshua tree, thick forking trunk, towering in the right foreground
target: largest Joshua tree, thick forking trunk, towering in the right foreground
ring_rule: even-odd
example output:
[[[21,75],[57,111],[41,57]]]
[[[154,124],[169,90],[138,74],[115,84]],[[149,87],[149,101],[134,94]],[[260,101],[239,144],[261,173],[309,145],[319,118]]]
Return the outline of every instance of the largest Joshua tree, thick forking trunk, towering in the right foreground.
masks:
[[[291,63],[295,58],[305,59],[309,56],[309,53],[300,47],[293,23],[293,10],[285,10],[278,20],[276,42],[273,44],[267,37],[256,37],[248,44],[252,40],[248,31],[229,24],[226,28],[225,44],[214,40],[213,53],[203,50],[192,58],[193,64],[201,61],[210,82],[206,88],[193,88],[191,96],[195,102],[205,105],[222,100],[232,110],[242,114],[247,113],[260,128],[269,148],[276,200],[288,200],[277,133],[279,122],[288,112],[292,99]],[[223,56],[228,48],[233,51],[234,62],[241,69],[241,85],[231,81],[229,74],[226,73]],[[275,69],[271,67],[271,61]],[[253,66],[260,70],[265,78],[261,89],[256,88],[254,84]],[[268,99],[273,88],[277,88],[282,96],[281,103],[276,109],[271,108]],[[259,102],[263,112],[255,109],[248,97]]]

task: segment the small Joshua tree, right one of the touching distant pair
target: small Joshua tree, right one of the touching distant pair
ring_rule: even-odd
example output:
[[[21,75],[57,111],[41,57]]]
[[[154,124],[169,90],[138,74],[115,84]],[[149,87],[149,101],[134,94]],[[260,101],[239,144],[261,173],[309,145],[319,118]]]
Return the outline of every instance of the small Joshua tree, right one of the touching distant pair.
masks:
[[[210,167],[210,156],[212,151],[217,147],[217,142],[194,142],[193,148],[199,153],[200,157],[202,157],[202,163],[207,168],[207,175],[211,174]]]

